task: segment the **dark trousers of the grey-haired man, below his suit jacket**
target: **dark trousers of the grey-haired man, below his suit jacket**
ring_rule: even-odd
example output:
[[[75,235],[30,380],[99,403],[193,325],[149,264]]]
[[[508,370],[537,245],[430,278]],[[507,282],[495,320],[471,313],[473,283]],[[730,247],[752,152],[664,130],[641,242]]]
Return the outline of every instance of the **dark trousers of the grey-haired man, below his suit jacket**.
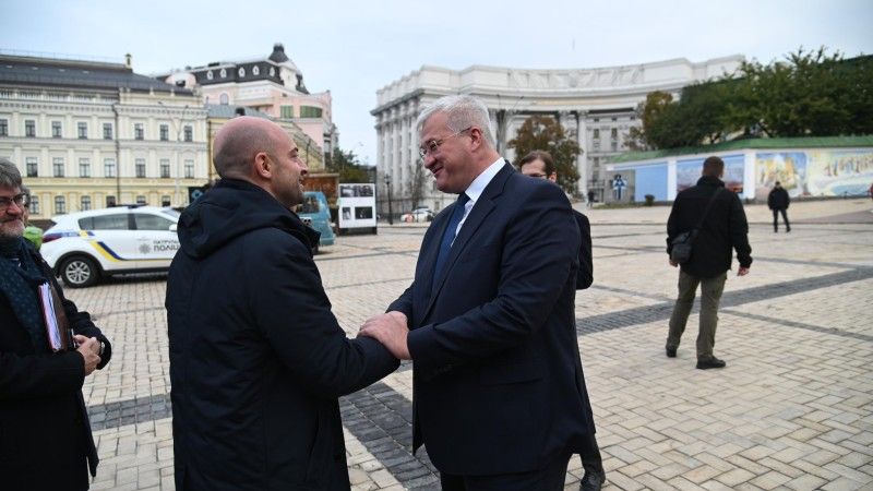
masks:
[[[550,462],[545,468],[529,472],[497,476],[453,476],[440,472],[443,491],[562,491],[570,455]]]

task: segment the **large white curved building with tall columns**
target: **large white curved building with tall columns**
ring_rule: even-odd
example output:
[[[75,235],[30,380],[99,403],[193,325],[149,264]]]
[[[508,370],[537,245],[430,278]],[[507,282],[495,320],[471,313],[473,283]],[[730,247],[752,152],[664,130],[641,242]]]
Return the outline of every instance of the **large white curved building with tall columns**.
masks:
[[[576,163],[579,194],[591,189],[602,199],[610,178],[606,160],[627,149],[626,135],[639,124],[635,109],[648,93],[665,91],[679,96],[686,85],[734,72],[743,59],[730,56],[699,63],[674,59],[569,70],[474,65],[457,71],[424,65],[376,92],[378,106],[371,111],[378,137],[376,167],[390,178],[400,211],[415,205],[439,211],[451,203],[454,197],[438,191],[429,172],[420,170],[415,121],[421,109],[439,97],[470,94],[490,109],[498,151],[511,160],[515,155],[506,144],[527,118],[558,118],[583,149]],[[382,178],[380,192],[385,191]]]

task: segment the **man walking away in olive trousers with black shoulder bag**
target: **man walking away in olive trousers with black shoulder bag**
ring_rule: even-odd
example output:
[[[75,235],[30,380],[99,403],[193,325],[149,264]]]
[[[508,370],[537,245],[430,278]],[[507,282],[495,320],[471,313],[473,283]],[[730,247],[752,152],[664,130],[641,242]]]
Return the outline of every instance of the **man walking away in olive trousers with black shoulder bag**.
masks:
[[[685,331],[697,285],[701,285],[701,326],[697,334],[697,368],[702,370],[723,368],[723,360],[713,355],[718,324],[718,303],[725,290],[732,254],[737,251],[740,262],[738,276],[749,274],[752,266],[752,248],[749,246],[749,223],[740,197],[725,190],[721,176],[725,161],[709,157],[703,163],[703,177],[697,185],[680,192],[673,201],[667,220],[667,254],[672,251],[673,239],[697,226],[713,196],[713,205],[701,226],[692,247],[691,259],[679,271],[679,298],[670,316],[667,336],[667,356],[675,358],[679,342]],[[716,195],[718,193],[718,195]],[[679,264],[672,259],[670,265]]]

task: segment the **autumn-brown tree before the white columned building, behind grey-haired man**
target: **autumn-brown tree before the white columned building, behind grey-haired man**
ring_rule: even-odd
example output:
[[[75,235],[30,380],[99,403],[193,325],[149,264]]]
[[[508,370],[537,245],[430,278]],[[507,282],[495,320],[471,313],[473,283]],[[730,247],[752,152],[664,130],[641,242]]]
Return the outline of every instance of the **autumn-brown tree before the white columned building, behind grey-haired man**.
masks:
[[[510,140],[509,147],[515,151],[515,164],[535,149],[547,151],[554,159],[558,184],[566,192],[576,191],[579,172],[576,157],[583,152],[575,139],[566,134],[564,127],[549,116],[531,116]]]

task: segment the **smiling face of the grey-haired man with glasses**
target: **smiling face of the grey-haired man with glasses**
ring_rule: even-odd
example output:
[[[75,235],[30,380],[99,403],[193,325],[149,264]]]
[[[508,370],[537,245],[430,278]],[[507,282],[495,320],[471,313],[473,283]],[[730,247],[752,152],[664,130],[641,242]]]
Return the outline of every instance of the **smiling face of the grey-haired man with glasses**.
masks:
[[[468,129],[455,133],[449,128],[445,112],[434,112],[421,127],[419,147],[428,148],[424,167],[436,179],[436,189],[444,193],[463,193],[481,169],[474,165]],[[439,143],[434,147],[432,143]]]

